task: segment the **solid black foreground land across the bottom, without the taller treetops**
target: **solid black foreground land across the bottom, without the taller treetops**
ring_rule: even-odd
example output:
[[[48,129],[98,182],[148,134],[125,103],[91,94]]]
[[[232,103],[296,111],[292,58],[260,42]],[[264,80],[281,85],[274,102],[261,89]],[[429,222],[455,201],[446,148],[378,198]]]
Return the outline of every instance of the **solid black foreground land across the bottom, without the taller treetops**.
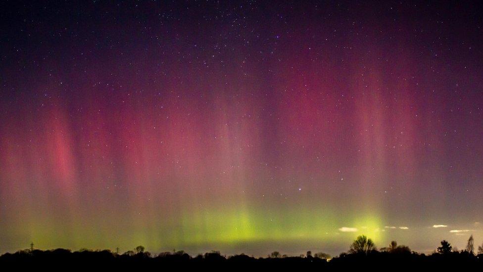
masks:
[[[0,270],[12,267],[49,270],[150,269],[155,271],[177,269],[270,269],[295,271],[483,271],[483,254],[468,252],[424,255],[418,253],[394,254],[341,254],[330,261],[314,257],[253,258],[246,255],[225,257],[217,252],[191,257],[186,253],[164,254],[151,257],[148,252],[118,255],[108,250],[71,252],[65,249],[32,250],[6,253],[0,256]],[[13,271],[13,270],[12,270]]]

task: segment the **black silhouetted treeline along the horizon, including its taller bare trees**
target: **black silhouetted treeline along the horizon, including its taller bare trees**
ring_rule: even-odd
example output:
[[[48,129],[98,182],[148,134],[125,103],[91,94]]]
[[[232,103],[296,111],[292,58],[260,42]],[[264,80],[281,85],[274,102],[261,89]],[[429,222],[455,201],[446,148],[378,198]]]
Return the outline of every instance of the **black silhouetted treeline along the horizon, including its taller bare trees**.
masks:
[[[120,254],[110,250],[82,249],[72,252],[67,249],[38,250],[31,244],[30,249],[5,253],[0,256],[0,268],[13,265],[22,268],[59,268],[59,269],[162,269],[162,268],[265,268],[265,269],[304,269],[308,271],[401,271],[427,269],[429,271],[461,271],[483,269],[483,248],[474,253],[473,236],[468,240],[465,250],[455,250],[443,240],[434,253],[425,255],[411,251],[409,247],[397,245],[392,241],[388,247],[378,250],[374,242],[362,235],[350,245],[346,253],[330,258],[326,253],[308,251],[297,257],[272,252],[267,258],[254,258],[244,254],[224,256],[219,251],[211,251],[190,256],[184,251],[162,252],[152,256],[143,246]]]

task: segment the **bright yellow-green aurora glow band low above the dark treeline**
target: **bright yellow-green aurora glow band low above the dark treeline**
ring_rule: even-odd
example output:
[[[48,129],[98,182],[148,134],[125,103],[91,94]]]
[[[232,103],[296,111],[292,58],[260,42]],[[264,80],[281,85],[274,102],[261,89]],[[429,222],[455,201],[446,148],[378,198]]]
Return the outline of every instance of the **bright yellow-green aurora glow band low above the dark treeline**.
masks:
[[[359,215],[345,215],[348,217]],[[338,228],[345,224],[356,227],[358,231],[344,233]],[[153,251],[170,250],[171,248],[202,248],[208,245],[219,245],[220,247],[233,247],[237,244],[277,243],[296,242],[304,240],[319,241],[321,246],[326,242],[333,242],[340,239],[340,236],[355,237],[359,234],[378,241],[382,232],[376,229],[378,220],[373,216],[366,216],[362,219],[350,220],[348,218],[337,218],[334,213],[323,208],[307,211],[296,209],[286,210],[284,214],[252,207],[238,209],[236,207],[218,207],[205,210],[196,210],[187,213],[177,223],[170,225],[169,222],[163,225],[162,220],[157,222],[160,227],[156,232],[153,228],[146,228],[146,225],[135,224],[130,228],[107,229],[100,226],[100,230],[92,227],[73,228],[65,222],[45,221],[48,224],[39,224],[32,229],[30,239],[35,241],[38,247],[53,248],[59,245],[72,249],[79,248],[116,248],[121,245],[145,245]],[[106,224],[111,222],[106,221]],[[78,225],[79,222],[72,222]],[[87,226],[87,225],[86,225]],[[177,232],[177,229],[182,230]],[[58,233],[58,235],[47,235]],[[155,233],[146,235],[146,233]],[[177,235],[165,235],[165,233],[177,233]],[[350,238],[351,239],[351,238]],[[72,246],[73,245],[73,246]],[[125,248],[125,246],[122,246]]]

